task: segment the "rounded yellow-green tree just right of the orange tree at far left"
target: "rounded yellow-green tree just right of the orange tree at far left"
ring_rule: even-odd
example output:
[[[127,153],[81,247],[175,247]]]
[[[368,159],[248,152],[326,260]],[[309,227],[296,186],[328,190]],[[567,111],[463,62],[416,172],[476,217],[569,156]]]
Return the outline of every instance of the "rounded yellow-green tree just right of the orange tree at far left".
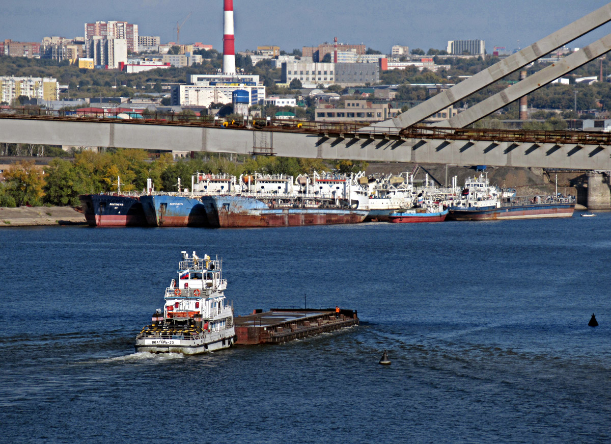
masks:
[[[79,194],[85,193],[85,182],[70,161],[53,159],[45,167],[45,196],[43,201],[51,205],[79,204]]]

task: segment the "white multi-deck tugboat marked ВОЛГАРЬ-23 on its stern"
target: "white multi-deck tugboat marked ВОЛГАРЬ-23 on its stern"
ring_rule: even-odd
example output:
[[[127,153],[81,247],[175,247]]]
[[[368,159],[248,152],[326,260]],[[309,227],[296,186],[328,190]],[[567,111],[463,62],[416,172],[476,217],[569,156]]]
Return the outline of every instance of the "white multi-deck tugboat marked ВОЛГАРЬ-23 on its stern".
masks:
[[[181,251],[178,279],[166,288],[166,305],[136,336],[136,352],[195,355],[227,349],[235,342],[233,306],[225,305],[222,259]]]

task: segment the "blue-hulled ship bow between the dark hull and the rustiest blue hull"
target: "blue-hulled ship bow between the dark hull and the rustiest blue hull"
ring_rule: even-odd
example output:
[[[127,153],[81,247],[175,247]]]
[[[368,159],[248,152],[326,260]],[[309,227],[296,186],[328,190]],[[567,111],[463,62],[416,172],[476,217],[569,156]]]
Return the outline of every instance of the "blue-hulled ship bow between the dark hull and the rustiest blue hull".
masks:
[[[149,226],[208,227],[208,217],[201,198],[174,194],[142,196],[142,209]]]

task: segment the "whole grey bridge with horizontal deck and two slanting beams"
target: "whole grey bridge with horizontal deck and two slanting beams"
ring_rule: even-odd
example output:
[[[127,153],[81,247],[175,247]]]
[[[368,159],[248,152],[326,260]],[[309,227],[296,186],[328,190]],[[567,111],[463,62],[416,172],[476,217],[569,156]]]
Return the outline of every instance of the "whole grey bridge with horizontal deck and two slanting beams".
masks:
[[[435,125],[428,117],[611,21],[611,3],[547,35],[393,119],[373,125],[318,122],[120,120],[42,111],[0,114],[0,142],[400,161],[573,168],[607,187],[611,135],[587,131],[480,130],[478,120],[611,51],[611,34]],[[182,117],[182,116],[181,116]],[[262,124],[262,125],[261,125]],[[597,176],[598,175],[598,176]],[[592,180],[594,177],[594,180]],[[608,199],[607,196],[604,199]],[[604,193],[603,193],[604,194]]]

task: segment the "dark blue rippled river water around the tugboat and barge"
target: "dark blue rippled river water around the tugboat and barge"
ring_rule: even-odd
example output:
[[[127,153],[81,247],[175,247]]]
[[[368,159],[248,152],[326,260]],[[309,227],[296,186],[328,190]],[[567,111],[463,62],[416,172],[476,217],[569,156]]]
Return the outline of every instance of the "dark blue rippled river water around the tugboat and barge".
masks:
[[[223,257],[236,314],[305,295],[361,324],[196,357],[134,353],[181,250]],[[609,213],[2,229],[0,442],[609,442],[610,258]]]

